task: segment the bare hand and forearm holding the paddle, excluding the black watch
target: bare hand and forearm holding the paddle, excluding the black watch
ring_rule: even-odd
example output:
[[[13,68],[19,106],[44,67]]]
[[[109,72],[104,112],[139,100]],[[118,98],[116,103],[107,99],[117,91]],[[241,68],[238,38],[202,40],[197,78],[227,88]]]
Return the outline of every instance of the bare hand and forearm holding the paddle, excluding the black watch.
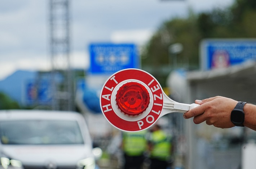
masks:
[[[185,119],[194,117],[195,124],[206,121],[206,124],[219,128],[231,128],[235,126],[230,120],[230,115],[238,101],[227,97],[216,96],[204,100],[196,100],[195,103],[200,106],[187,111],[183,115]],[[243,111],[243,125],[256,131],[256,105],[247,103],[244,105]]]

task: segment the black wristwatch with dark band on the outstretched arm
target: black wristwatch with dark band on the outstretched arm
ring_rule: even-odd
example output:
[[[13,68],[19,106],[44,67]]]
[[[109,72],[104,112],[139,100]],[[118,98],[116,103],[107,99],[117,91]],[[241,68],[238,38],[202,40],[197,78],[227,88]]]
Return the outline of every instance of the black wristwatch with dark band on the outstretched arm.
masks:
[[[243,107],[247,102],[239,101],[234,110],[231,111],[230,120],[235,126],[244,127]]]

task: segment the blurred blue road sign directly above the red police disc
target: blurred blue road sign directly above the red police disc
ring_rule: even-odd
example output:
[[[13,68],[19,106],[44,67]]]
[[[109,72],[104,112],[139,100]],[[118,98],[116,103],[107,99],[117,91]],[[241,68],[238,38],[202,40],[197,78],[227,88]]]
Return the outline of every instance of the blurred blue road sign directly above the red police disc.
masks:
[[[91,74],[113,74],[126,68],[139,68],[134,44],[95,43],[89,45]]]

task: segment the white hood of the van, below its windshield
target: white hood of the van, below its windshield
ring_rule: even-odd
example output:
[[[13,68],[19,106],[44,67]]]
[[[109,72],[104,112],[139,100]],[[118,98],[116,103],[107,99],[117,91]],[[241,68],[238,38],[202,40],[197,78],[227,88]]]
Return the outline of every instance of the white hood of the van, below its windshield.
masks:
[[[79,160],[93,157],[91,146],[86,145],[8,145],[2,153],[22,164],[44,165],[53,162],[62,165],[76,165]]]

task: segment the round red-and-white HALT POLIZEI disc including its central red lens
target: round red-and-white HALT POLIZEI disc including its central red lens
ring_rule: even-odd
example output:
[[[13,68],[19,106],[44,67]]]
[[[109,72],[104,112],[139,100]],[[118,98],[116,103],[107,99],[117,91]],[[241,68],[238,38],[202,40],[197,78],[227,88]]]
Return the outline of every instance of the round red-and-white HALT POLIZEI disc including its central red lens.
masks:
[[[159,82],[151,74],[140,69],[124,69],[114,73],[102,87],[101,111],[122,131],[142,131],[159,118],[163,97]]]

